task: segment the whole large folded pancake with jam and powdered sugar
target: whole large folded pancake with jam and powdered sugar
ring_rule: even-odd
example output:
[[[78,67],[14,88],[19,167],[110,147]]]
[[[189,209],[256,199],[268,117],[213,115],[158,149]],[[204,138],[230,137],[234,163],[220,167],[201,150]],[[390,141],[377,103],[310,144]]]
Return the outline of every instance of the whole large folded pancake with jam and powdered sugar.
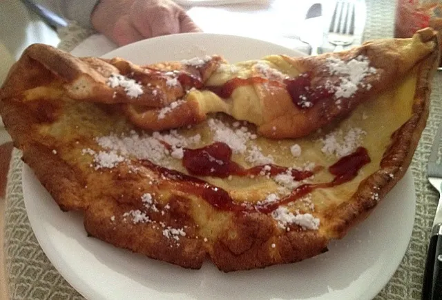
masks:
[[[318,57],[151,66],[35,45],[0,114],[90,236],[185,268],[262,268],[326,251],[403,177],[437,45],[427,28]]]

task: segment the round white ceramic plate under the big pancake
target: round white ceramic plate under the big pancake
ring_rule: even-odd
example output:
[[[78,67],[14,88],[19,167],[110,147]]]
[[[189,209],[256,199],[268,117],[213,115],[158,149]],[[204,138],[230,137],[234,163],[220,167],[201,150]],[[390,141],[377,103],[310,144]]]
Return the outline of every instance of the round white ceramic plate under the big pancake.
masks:
[[[217,34],[148,39],[106,54],[134,63],[222,54],[229,61],[299,53]],[[372,299],[390,280],[410,241],[415,192],[410,171],[367,220],[313,259],[224,273],[206,261],[185,270],[86,236],[81,214],[61,212],[32,170],[23,168],[29,221],[48,259],[88,299]]]

